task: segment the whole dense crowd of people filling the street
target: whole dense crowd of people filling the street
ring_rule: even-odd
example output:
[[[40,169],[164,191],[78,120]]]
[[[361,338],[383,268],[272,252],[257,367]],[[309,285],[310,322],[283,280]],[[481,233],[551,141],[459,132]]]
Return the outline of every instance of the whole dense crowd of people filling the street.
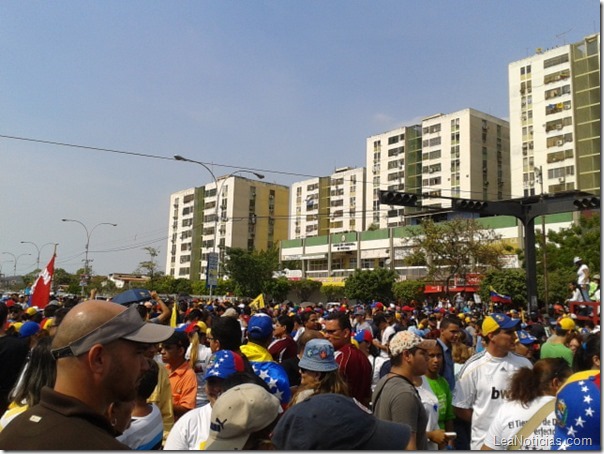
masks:
[[[0,449],[600,449],[599,324],[565,313],[14,295],[0,361]]]

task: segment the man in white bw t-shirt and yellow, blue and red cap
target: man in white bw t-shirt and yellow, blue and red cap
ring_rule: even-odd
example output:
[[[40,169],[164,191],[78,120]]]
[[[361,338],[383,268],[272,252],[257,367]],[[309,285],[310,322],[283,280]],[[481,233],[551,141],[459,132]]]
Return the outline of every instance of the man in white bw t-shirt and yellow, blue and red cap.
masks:
[[[520,319],[504,314],[485,317],[482,335],[486,349],[468,359],[457,376],[453,410],[458,418],[471,422],[472,450],[479,450],[484,444],[514,372],[521,367],[533,367],[528,359],[512,353],[519,324]]]

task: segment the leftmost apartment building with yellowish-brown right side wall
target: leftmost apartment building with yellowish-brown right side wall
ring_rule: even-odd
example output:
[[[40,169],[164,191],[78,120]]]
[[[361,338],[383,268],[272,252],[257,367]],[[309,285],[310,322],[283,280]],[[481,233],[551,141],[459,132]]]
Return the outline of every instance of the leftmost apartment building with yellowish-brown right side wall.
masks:
[[[289,188],[237,175],[170,196],[166,273],[205,280],[207,255],[266,250],[287,238]],[[219,276],[223,273],[219,266]]]

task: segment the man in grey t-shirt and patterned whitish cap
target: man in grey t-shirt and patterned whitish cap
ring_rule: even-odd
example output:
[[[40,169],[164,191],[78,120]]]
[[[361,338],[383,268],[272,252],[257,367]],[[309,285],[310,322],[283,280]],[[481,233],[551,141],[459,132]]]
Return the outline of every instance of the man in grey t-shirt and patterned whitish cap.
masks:
[[[373,392],[373,414],[378,419],[410,426],[409,450],[428,449],[428,417],[413,381],[426,373],[427,350],[435,346],[433,339],[422,339],[409,331],[396,333],[390,341],[390,373]]]

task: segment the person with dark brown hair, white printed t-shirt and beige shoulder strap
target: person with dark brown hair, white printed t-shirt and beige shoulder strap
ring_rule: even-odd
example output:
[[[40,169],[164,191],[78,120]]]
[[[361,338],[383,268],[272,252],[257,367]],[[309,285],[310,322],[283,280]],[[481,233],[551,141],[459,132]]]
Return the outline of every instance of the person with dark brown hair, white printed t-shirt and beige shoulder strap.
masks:
[[[571,373],[562,358],[540,359],[532,369],[518,369],[482,449],[504,450],[516,445],[520,449],[549,450],[556,423],[555,396]]]

